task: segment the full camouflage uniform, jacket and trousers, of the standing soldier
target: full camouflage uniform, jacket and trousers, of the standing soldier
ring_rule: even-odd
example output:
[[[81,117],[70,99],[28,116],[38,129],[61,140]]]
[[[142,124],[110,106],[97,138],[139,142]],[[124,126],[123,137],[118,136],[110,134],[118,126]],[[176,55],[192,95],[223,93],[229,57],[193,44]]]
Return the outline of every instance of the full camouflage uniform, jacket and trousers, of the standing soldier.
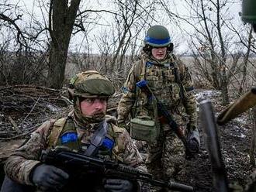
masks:
[[[180,75],[181,85],[175,77],[175,68]],[[148,101],[147,95],[136,87],[136,83],[145,79],[154,95],[164,103],[165,107],[175,118],[178,125],[185,128],[196,127],[196,101],[192,93],[193,85],[188,67],[182,62],[176,62],[173,54],[165,60],[154,60],[146,53],[142,53],[141,60],[133,64],[124,84],[123,97],[118,106],[118,122],[123,123],[131,113],[149,115],[154,119],[154,107]],[[157,178],[169,180],[181,170],[184,161],[184,146],[169,125],[161,123],[161,133],[156,142],[149,143],[147,169]]]

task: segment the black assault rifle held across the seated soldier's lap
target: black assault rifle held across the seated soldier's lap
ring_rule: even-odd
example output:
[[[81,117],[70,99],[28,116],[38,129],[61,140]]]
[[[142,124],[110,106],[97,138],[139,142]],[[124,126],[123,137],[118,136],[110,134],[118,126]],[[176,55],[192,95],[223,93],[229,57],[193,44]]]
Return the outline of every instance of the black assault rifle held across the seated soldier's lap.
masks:
[[[154,180],[152,175],[144,173],[133,167],[116,163],[106,159],[99,159],[92,156],[85,156],[71,149],[47,149],[44,150],[40,161],[49,165],[54,165],[64,170],[79,170],[85,173],[98,173],[103,178],[119,178],[131,181],[140,180],[157,187],[167,187],[170,190],[193,191],[193,187],[163,180]],[[68,173],[68,171],[67,171]]]

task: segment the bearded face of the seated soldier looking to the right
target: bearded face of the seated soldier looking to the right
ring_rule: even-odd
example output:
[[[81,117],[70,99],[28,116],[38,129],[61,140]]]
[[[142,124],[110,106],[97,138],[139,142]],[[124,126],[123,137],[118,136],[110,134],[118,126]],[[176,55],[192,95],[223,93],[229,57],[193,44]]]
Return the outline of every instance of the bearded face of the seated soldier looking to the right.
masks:
[[[101,115],[105,114],[107,98],[84,98],[80,102],[81,113],[83,115]]]

